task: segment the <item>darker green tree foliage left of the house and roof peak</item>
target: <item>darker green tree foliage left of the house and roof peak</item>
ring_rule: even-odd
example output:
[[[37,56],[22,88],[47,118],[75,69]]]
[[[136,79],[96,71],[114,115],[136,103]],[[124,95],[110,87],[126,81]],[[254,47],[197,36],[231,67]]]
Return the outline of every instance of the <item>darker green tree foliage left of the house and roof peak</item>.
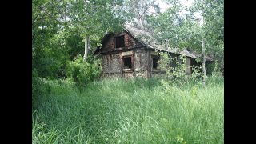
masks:
[[[67,62],[84,54],[85,36],[93,53],[106,32],[122,30],[124,18],[119,0],[33,0],[32,69],[40,78],[66,78]]]

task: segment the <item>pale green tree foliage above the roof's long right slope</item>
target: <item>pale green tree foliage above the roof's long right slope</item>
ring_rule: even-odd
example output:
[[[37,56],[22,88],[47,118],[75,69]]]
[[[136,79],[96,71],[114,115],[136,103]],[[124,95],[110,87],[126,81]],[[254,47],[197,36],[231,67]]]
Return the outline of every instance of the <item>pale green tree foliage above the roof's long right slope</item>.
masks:
[[[154,38],[166,48],[189,47],[202,52],[202,38],[206,54],[219,62],[224,70],[224,1],[195,0],[191,6],[182,6],[179,0],[166,0],[171,6],[162,14],[147,19],[147,26],[154,32]],[[180,12],[186,10],[186,14]],[[196,18],[200,14],[202,18]],[[201,22],[200,22],[201,21]]]

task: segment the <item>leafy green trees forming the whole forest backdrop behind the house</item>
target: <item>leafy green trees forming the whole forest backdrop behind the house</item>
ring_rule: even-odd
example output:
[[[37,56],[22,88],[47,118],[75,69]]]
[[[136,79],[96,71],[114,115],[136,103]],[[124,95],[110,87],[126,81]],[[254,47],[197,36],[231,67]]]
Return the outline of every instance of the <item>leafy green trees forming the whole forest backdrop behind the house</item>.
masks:
[[[159,42],[170,47],[190,47],[199,53],[204,39],[206,54],[224,72],[224,1],[196,0],[189,7],[178,0],[164,2],[170,8],[161,13],[155,0],[33,0],[34,76],[67,78],[70,63],[85,54],[86,38],[90,41],[86,62],[98,65],[94,49],[101,46],[105,34],[122,30],[124,23],[152,31]],[[181,14],[182,10],[186,13]],[[197,13],[202,15],[203,25],[195,17]]]

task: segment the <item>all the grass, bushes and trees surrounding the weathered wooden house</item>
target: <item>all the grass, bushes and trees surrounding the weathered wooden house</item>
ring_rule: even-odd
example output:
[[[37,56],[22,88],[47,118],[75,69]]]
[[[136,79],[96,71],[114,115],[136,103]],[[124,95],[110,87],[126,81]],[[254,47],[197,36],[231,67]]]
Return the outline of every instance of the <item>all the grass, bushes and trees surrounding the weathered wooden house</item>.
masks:
[[[184,7],[165,0],[170,8],[164,12],[155,2],[32,1],[33,143],[224,143],[224,1]],[[195,13],[202,14],[202,26]],[[167,80],[99,80],[94,50],[125,22],[149,30],[166,48],[201,52],[205,43],[206,54],[217,60],[206,86],[197,67],[186,75],[184,58],[172,68],[165,54],[160,63]]]

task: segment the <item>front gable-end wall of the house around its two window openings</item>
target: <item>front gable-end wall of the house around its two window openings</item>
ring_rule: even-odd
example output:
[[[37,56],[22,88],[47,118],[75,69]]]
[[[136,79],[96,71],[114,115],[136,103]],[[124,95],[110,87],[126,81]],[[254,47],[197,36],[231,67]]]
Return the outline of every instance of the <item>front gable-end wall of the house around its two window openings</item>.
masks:
[[[116,37],[124,36],[124,47],[116,48]],[[134,49],[139,48],[139,49]],[[132,35],[123,32],[121,34],[111,34],[102,43],[102,69],[103,77],[123,76],[147,77],[148,75],[148,53],[143,48],[142,43],[138,42]],[[123,56],[132,56],[132,70],[123,69]]]

